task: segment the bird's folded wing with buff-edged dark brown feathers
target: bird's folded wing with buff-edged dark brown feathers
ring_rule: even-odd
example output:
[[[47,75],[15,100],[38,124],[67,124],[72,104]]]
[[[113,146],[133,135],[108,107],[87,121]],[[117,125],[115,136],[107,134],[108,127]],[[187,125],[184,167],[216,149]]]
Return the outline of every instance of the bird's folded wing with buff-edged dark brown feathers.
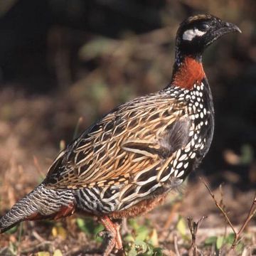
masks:
[[[129,183],[186,144],[186,108],[169,98],[137,98],[117,107],[60,152],[44,183],[82,188]]]

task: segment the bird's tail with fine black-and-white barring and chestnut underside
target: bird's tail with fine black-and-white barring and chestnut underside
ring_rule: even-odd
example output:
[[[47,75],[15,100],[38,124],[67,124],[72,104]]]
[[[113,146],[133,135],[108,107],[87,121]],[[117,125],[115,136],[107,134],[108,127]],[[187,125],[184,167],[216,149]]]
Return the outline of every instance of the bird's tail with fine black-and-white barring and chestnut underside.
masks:
[[[41,184],[0,218],[0,233],[4,233],[23,220],[58,219],[71,215],[74,211],[73,191],[68,189],[56,191]]]

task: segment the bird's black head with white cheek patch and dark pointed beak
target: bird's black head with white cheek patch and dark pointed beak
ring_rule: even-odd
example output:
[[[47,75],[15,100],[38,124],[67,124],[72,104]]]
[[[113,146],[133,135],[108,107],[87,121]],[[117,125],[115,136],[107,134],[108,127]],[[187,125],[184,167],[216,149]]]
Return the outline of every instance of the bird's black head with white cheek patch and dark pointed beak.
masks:
[[[176,35],[176,57],[181,55],[201,58],[203,50],[225,33],[240,32],[233,23],[212,15],[196,15],[181,23]]]

